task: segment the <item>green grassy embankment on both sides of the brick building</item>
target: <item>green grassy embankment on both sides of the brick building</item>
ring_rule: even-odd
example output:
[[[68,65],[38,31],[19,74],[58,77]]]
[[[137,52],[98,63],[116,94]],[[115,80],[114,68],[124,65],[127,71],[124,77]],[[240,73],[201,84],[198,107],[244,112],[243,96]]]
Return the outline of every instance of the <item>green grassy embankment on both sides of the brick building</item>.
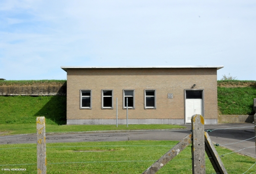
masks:
[[[65,80],[0,81],[0,86],[63,85]],[[256,81],[218,81],[220,115],[253,115]],[[45,116],[47,124],[66,124],[66,96],[0,96],[0,124],[34,123]]]

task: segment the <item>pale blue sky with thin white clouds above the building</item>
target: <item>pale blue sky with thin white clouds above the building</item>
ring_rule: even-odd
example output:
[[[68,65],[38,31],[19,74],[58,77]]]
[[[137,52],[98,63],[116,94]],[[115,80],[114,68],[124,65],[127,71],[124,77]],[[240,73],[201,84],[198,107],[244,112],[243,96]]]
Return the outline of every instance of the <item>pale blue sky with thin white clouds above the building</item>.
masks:
[[[218,66],[256,80],[255,0],[1,0],[0,78],[61,66]]]

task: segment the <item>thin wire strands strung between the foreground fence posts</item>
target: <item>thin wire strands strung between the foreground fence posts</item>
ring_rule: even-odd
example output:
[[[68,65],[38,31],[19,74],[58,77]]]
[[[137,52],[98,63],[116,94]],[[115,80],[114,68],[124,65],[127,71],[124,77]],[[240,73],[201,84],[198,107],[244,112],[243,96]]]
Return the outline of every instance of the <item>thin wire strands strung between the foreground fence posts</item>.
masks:
[[[241,128],[253,128],[255,126],[247,126],[247,127],[233,127],[233,128],[221,128],[221,129],[213,129],[213,130],[207,130],[206,132],[212,132],[212,131],[217,131],[217,130],[227,130],[227,129],[241,129]],[[177,130],[176,130],[177,131]],[[179,131],[191,131],[191,130],[179,130]],[[210,134],[209,134],[210,135]],[[0,137],[2,138],[2,137]],[[5,136],[6,138],[6,136]],[[240,142],[244,142],[244,141],[247,141],[247,140],[250,140],[250,139],[253,139],[253,138],[256,138],[256,136],[253,136],[249,139],[244,139],[244,140],[241,140],[241,141],[238,141],[238,142],[232,142],[232,143],[227,143],[227,144],[223,144],[223,145],[219,145],[218,143],[215,143],[214,145],[215,146],[227,146],[227,145],[233,145],[233,144],[237,144],[237,143],[240,143]],[[171,148],[175,145],[79,145],[79,146],[72,146],[72,145],[69,145],[69,146],[47,146],[47,149],[51,149],[51,148],[115,148],[115,147],[139,147],[139,148],[142,148],[142,147],[164,147],[164,148]],[[14,149],[35,149],[37,148],[36,146],[35,147],[11,147],[11,148],[0,148],[0,151],[6,151],[6,150],[14,150]],[[230,154],[233,154],[233,153],[237,153],[237,152],[241,152],[245,149],[249,149],[249,148],[256,148],[256,146],[251,146],[251,147],[243,147],[237,151],[232,151],[230,153],[226,153],[226,154],[221,154],[220,157],[224,157],[224,156],[227,156],[227,155],[230,155]],[[206,159],[209,159],[209,158],[206,158]],[[155,162],[157,161],[158,159],[154,159],[154,160],[111,160],[111,161],[78,161],[78,162],[48,162],[47,165],[58,165],[58,164],[86,164],[86,163],[115,163],[115,162],[118,162],[118,163],[124,163],[124,162]],[[181,160],[192,160],[192,158],[181,158],[181,159],[172,159],[172,161],[181,161]],[[0,164],[1,167],[8,167],[8,166],[19,166],[19,165],[36,165],[37,163],[20,163],[20,164]],[[247,171],[244,171],[244,173],[242,174],[246,174],[248,171],[250,171],[253,166],[256,164],[256,162],[250,166],[250,168],[247,169]],[[253,171],[251,172],[250,174],[253,174],[255,173],[256,171]],[[217,174],[217,173],[212,173],[212,174]]]

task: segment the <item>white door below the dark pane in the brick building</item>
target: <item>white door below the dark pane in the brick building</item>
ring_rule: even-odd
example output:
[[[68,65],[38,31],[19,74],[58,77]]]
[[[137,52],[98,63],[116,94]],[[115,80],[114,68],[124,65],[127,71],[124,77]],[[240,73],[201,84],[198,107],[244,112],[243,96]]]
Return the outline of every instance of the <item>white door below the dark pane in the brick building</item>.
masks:
[[[203,99],[186,99],[186,123],[191,123],[191,117],[195,114],[203,116]]]

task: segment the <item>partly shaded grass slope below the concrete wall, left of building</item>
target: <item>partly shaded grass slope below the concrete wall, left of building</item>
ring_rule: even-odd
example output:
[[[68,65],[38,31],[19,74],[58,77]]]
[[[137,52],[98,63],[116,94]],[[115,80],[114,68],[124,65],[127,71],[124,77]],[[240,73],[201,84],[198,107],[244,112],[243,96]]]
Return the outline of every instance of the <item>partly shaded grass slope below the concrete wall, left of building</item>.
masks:
[[[0,124],[35,123],[45,116],[49,125],[66,124],[66,96],[0,96]]]

